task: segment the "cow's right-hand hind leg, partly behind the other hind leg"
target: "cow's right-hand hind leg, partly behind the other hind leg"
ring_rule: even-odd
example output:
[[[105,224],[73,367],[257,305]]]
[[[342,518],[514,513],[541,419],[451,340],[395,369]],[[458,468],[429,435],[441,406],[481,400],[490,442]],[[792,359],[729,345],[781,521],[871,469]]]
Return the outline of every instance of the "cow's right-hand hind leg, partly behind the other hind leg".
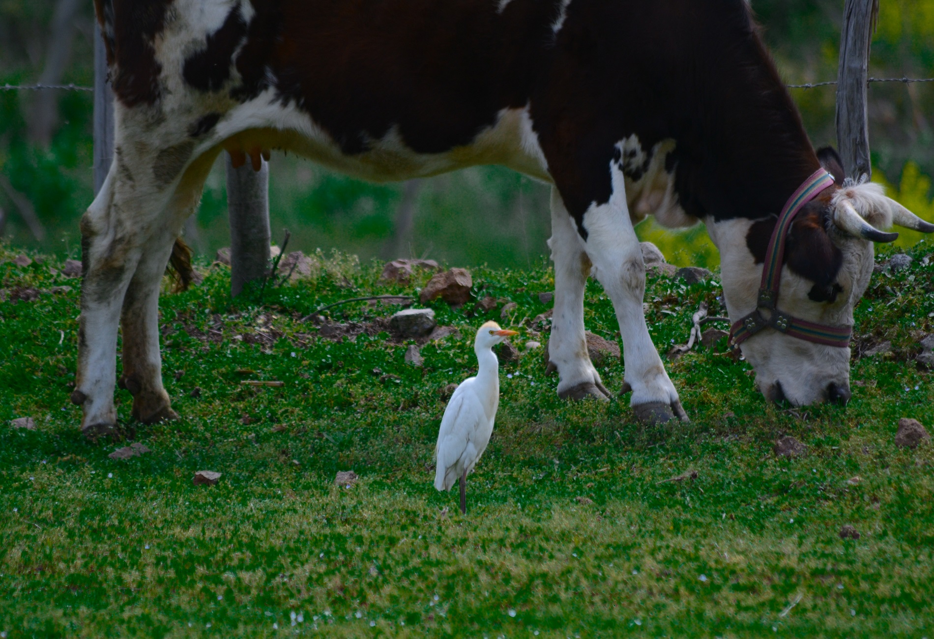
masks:
[[[163,225],[153,229],[123,298],[123,375],[118,383],[133,394],[133,417],[143,423],[178,417],[163,387],[159,289],[176,238],[184,221],[197,209],[216,157],[217,152],[205,154],[181,178],[163,212]]]

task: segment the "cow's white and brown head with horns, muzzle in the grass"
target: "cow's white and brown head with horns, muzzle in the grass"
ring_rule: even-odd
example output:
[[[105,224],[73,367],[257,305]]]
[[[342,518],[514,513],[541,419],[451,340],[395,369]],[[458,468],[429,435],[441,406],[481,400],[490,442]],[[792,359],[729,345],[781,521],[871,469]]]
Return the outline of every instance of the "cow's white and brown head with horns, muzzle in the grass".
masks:
[[[804,206],[788,232],[778,308],[800,320],[852,326],[854,306],[872,274],[873,242],[898,237],[879,229],[896,224],[931,233],[934,224],[886,197],[878,184],[844,184],[839,178],[840,158],[833,149],[821,149],[818,157],[838,182]],[[771,217],[708,223],[720,250],[731,321],[757,306],[775,221]],[[741,348],[756,369],[759,390],[772,401],[807,405],[845,403],[850,397],[849,348],[814,344],[771,328],[749,337]]]

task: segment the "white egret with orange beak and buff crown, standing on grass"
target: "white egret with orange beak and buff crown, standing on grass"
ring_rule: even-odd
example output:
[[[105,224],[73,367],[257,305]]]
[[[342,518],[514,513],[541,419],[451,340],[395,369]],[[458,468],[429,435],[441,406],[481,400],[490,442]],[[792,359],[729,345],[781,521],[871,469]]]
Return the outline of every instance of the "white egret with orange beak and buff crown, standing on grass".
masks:
[[[441,419],[434,448],[437,459],[434,488],[450,490],[460,477],[461,513],[467,512],[467,474],[474,470],[487,448],[500,405],[500,362],[493,347],[509,335],[517,332],[504,331],[495,321],[480,327],[474,339],[479,372],[460,383]]]

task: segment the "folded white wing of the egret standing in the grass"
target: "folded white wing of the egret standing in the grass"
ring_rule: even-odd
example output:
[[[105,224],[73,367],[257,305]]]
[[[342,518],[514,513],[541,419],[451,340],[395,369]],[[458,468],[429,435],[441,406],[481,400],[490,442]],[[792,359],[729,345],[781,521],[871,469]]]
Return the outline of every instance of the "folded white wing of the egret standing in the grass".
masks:
[[[434,487],[438,490],[450,489],[470,464],[471,460],[464,459],[464,453],[477,427],[486,419],[483,406],[471,387],[467,382],[458,387],[441,419],[438,444],[434,449],[437,456]]]

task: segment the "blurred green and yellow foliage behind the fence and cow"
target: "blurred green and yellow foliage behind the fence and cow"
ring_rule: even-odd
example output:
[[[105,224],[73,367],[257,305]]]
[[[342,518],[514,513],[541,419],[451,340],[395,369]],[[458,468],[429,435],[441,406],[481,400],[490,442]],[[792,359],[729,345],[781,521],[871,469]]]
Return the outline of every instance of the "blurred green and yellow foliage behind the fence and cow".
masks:
[[[92,83],[91,3],[76,21],[78,37],[63,82]],[[55,0],[0,2],[0,86],[35,82],[43,67]],[[754,0],[754,10],[782,75],[790,83],[835,79],[840,41],[839,0]],[[873,36],[870,75],[934,77],[934,0],[883,0]],[[815,146],[835,144],[832,87],[792,90]],[[29,139],[35,95],[0,91],[0,174],[35,207],[47,232],[39,242],[0,189],[0,235],[13,244],[76,256],[78,218],[92,200],[92,94],[61,92],[60,125],[48,149]],[[934,219],[934,83],[870,86],[873,178],[921,217]],[[274,238],[292,233],[290,249],[342,249],[361,259],[432,257],[448,263],[528,266],[547,254],[548,187],[502,167],[474,167],[423,180],[411,234],[395,236],[403,186],[375,185],[281,154],[270,190]],[[897,187],[897,188],[896,188]],[[186,236],[199,252],[229,243],[222,166],[205,187]],[[637,228],[672,263],[714,266],[718,255],[702,226]],[[903,233],[899,244],[918,234]],[[398,254],[400,244],[404,255]]]

